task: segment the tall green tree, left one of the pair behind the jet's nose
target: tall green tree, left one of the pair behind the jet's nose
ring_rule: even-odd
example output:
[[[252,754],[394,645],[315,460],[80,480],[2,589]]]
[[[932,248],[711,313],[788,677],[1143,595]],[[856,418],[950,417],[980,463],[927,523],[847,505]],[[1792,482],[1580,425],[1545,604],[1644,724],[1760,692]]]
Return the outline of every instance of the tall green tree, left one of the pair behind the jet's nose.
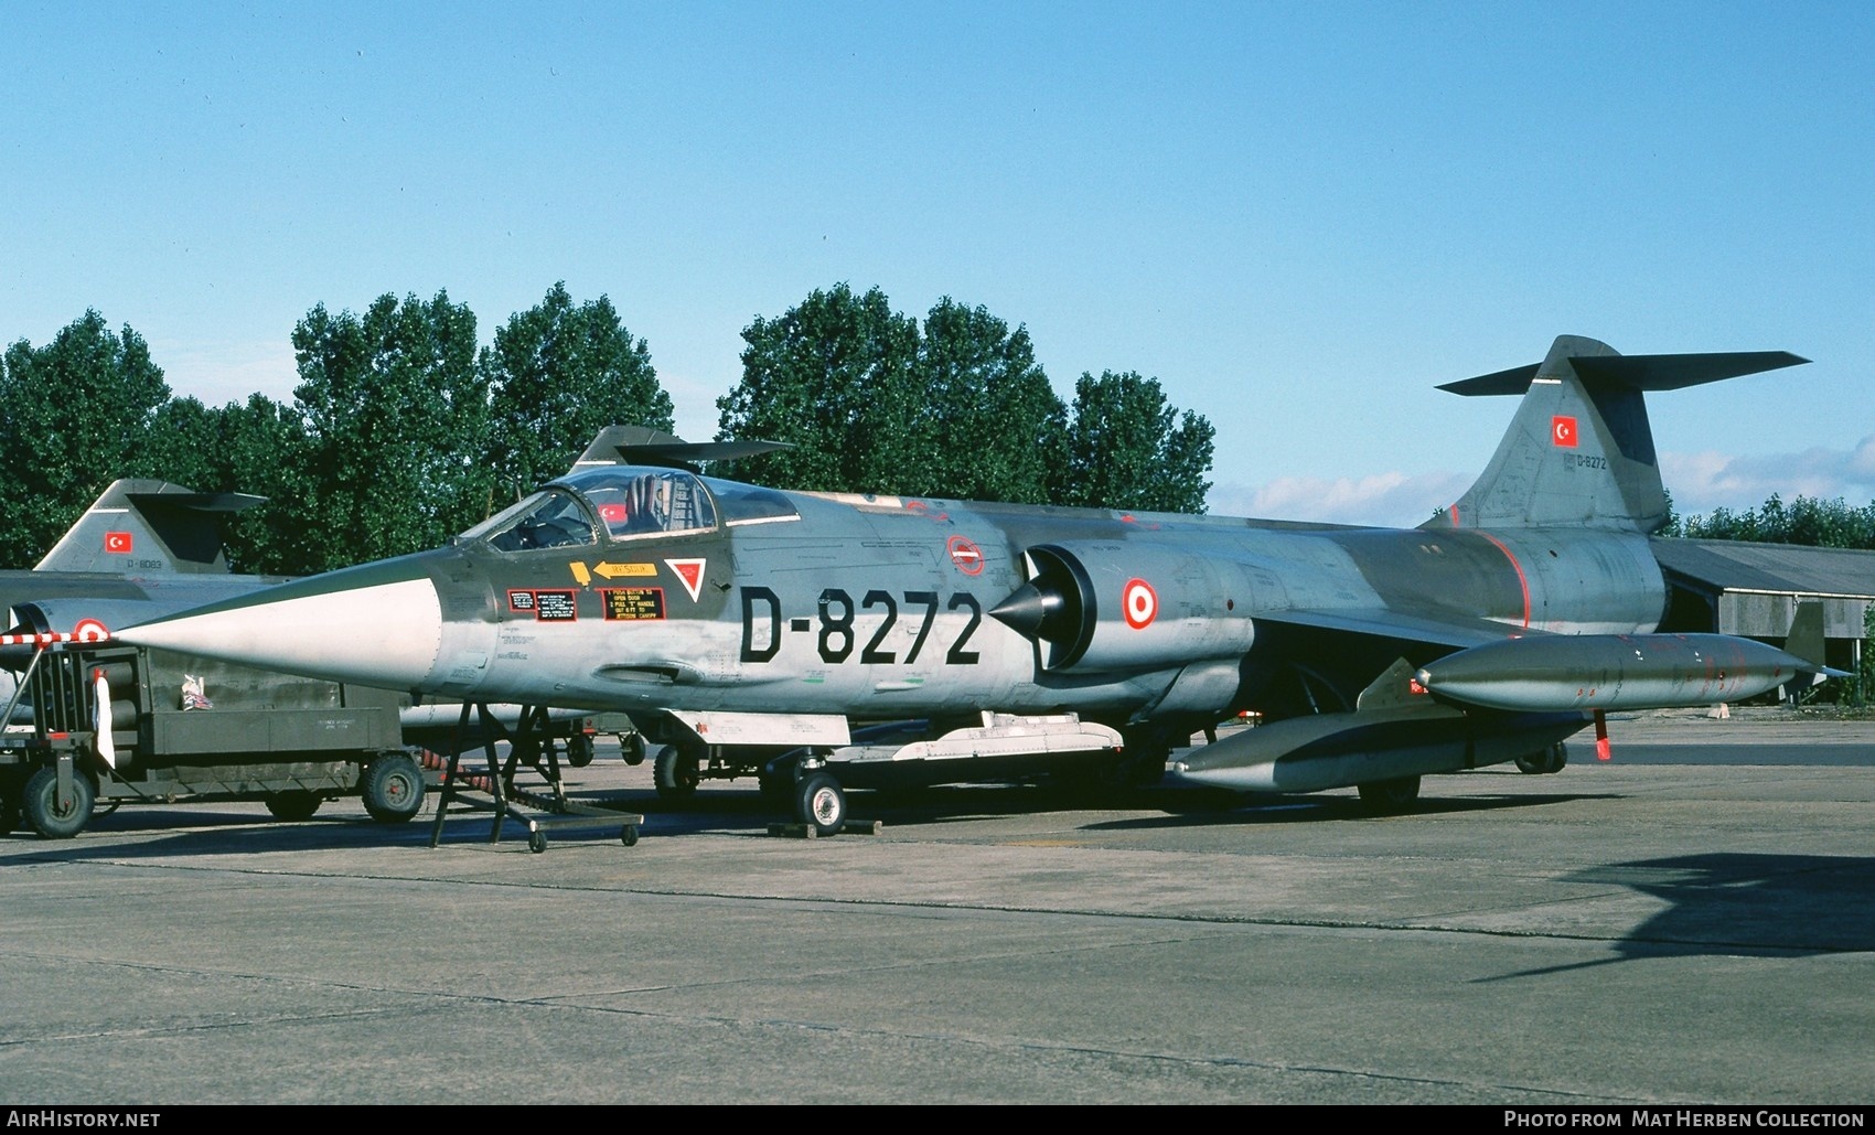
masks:
[[[291,546],[272,555],[330,570],[433,548],[488,512],[488,385],[467,306],[442,291],[386,293],[362,315],[319,304],[292,328],[292,351],[302,497]]]

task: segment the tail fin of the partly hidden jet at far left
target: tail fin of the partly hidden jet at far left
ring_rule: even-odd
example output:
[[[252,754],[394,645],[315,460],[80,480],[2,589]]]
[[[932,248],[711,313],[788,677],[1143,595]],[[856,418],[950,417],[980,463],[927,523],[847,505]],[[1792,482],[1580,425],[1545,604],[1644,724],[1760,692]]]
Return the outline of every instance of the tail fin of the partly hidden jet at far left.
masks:
[[[126,477],[111,482],[34,570],[223,574],[221,518],[264,499]]]

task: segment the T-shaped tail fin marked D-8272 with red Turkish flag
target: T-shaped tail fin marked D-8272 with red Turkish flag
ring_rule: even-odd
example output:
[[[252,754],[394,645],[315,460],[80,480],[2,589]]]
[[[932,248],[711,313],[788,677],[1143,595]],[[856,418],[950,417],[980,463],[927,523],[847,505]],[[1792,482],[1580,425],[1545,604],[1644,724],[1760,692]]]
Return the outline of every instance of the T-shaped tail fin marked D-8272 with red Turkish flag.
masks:
[[[1421,527],[1581,525],[1650,533],[1667,522],[1644,390],[1678,390],[1809,362],[1787,351],[1618,355],[1558,336],[1543,362],[1446,383],[1522,394],[1485,473]]]

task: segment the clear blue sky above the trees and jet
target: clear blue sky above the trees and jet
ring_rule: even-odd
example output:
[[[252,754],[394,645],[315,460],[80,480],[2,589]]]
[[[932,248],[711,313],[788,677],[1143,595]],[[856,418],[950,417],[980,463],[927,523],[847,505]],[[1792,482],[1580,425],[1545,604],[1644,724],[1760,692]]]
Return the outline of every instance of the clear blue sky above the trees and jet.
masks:
[[[1875,499],[1862,4],[0,0],[0,341],[96,308],[176,394],[291,400],[313,304],[564,280],[707,437],[816,287],[1026,325],[1217,426],[1213,512],[1418,523],[1508,400],[1624,353],[1682,512]]]

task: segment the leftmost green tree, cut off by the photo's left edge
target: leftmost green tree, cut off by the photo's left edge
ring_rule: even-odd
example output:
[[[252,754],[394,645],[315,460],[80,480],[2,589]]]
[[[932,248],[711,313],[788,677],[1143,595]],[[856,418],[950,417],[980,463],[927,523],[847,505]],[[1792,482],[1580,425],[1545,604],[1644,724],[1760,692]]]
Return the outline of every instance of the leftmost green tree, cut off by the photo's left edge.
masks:
[[[32,567],[118,477],[144,463],[163,370],[129,325],[86,311],[45,347],[19,340],[0,364],[0,542]]]

